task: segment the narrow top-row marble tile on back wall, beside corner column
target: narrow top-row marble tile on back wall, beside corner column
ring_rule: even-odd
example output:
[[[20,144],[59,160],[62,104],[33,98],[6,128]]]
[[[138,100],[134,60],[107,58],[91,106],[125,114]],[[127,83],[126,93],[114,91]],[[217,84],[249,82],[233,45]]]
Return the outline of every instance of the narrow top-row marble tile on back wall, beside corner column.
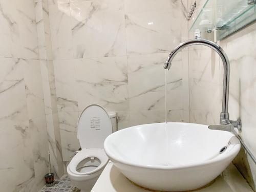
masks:
[[[73,58],[70,5],[49,6],[53,58]]]

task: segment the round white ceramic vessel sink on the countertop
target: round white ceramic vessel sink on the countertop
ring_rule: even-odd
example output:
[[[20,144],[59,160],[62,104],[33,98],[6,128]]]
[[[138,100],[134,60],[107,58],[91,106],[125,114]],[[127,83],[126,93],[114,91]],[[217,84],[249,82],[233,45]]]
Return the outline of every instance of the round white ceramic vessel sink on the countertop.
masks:
[[[220,153],[223,147],[226,150]],[[134,183],[154,190],[184,191],[218,177],[238,154],[240,141],[207,125],[168,123],[166,129],[166,123],[155,123],[113,133],[104,149]]]

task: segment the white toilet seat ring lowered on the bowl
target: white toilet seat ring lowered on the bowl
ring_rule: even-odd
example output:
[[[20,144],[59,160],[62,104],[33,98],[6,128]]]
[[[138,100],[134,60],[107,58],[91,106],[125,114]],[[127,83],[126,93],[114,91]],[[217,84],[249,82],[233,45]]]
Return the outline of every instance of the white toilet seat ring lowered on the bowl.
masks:
[[[100,160],[100,164],[97,166],[97,168],[93,169],[90,172],[86,172],[86,173],[78,172],[77,171],[77,165],[82,160],[84,160],[86,158],[90,158],[90,157],[98,158]],[[98,172],[103,167],[105,167],[105,165],[108,163],[108,161],[109,161],[108,156],[106,156],[104,150],[101,149],[101,148],[99,148],[99,149],[83,149],[83,150],[79,151],[73,157],[73,159],[69,163],[69,169],[70,169],[70,172],[75,174],[75,175],[79,175],[79,176],[91,175],[91,174],[94,174],[94,173]]]

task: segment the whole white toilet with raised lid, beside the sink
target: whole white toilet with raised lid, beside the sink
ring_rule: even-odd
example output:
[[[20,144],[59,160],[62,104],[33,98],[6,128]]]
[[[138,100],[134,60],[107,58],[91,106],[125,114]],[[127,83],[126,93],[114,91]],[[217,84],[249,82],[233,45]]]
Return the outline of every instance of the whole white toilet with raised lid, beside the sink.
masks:
[[[81,151],[71,159],[67,173],[71,183],[81,192],[91,191],[109,158],[103,142],[117,131],[116,113],[107,113],[101,106],[93,104],[82,111],[77,122],[77,138]]]

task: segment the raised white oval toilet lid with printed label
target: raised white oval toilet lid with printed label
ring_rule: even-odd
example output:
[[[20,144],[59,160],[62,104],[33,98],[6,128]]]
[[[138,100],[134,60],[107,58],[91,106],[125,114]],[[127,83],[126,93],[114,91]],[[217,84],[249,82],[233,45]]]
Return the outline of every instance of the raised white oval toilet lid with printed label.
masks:
[[[110,134],[112,124],[108,113],[97,104],[87,106],[77,122],[77,138],[81,148],[103,148],[104,140]]]

